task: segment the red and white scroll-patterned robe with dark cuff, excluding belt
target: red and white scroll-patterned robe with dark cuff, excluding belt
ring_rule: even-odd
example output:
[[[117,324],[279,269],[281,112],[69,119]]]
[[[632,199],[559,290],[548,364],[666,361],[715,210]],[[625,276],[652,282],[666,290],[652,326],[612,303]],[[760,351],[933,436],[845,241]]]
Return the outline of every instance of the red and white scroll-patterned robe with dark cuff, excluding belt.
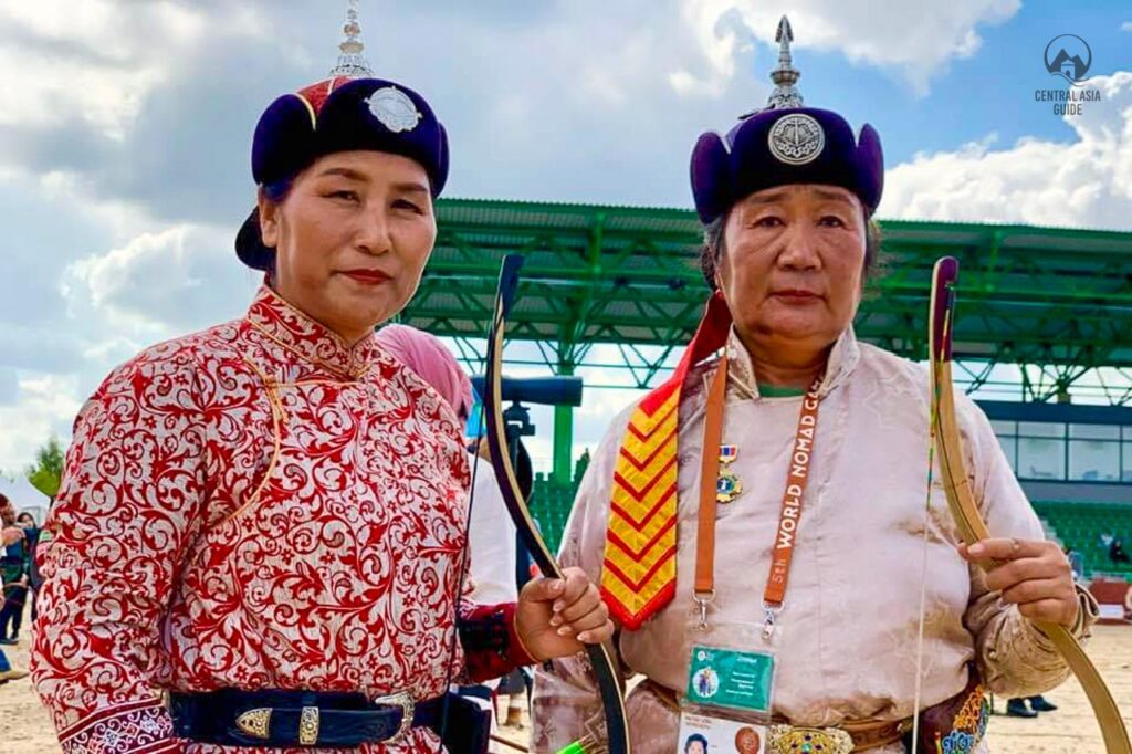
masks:
[[[63,751],[235,751],[173,737],[160,689],[441,694],[466,487],[431,387],[266,286],[118,368],[76,421],[40,555],[32,670]],[[513,610],[461,605],[466,677],[530,662]],[[360,751],[436,749],[415,729]]]

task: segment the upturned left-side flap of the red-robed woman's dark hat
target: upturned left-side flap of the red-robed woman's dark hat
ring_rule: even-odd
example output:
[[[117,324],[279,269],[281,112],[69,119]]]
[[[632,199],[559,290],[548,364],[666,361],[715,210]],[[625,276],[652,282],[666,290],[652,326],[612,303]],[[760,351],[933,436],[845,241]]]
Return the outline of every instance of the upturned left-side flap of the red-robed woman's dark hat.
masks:
[[[273,183],[297,173],[310,162],[317,115],[298,94],[275,100],[256,125],[251,147],[251,175],[256,183]]]

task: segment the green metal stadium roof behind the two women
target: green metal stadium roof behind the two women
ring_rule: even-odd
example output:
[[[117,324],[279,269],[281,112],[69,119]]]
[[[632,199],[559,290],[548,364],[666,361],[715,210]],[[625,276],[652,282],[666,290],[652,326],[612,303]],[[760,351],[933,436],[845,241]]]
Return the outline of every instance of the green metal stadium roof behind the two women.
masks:
[[[511,337],[538,341],[564,370],[594,343],[659,346],[691,337],[707,289],[701,225],[687,209],[448,199],[420,291],[402,320],[437,335],[483,336],[499,262],[522,254]],[[960,260],[955,351],[1040,365],[1072,383],[1132,367],[1132,233],[1027,225],[882,221],[884,274],[856,320],[864,340],[924,358],[935,259]],[[1035,396],[1035,397],[1049,397]]]

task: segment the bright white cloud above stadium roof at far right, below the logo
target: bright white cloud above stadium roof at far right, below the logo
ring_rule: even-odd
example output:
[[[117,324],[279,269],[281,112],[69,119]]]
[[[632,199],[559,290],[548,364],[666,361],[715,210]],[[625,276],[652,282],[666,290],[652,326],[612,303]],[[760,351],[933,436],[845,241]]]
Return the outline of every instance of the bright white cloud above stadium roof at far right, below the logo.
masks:
[[[907,220],[1132,230],[1132,72],[1089,80],[1101,102],[1065,115],[1077,139],[993,139],[916,155],[885,177],[880,213]],[[1028,103],[1055,115],[1048,103]]]

